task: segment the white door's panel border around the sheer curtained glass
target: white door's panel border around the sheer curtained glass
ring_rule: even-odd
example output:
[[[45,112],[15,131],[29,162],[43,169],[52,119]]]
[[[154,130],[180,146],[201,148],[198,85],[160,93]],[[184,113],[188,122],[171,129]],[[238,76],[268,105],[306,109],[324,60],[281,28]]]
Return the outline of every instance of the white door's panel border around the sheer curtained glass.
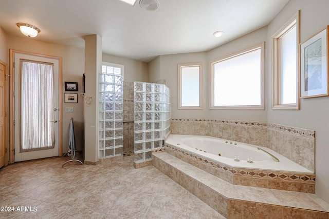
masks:
[[[28,152],[21,152],[21,140],[22,140],[22,130],[21,130],[21,91],[22,83],[20,79],[20,59],[28,59],[35,62],[46,62],[46,63],[53,63],[53,101],[54,101],[54,118],[52,119],[51,123],[54,125],[54,147],[50,149],[43,149],[43,150],[35,150],[35,151],[28,151]],[[14,81],[15,81],[15,89],[14,89],[14,133],[15,133],[15,162],[19,161],[27,161],[27,160],[34,160],[38,158],[44,157],[51,157],[51,156],[58,156],[59,155],[59,59],[38,56],[38,55],[31,55],[31,54],[24,54],[15,52],[14,53]],[[31,98],[32,99],[32,98]],[[29,118],[33,120],[32,116]],[[40,133],[45,134],[45,133]]]

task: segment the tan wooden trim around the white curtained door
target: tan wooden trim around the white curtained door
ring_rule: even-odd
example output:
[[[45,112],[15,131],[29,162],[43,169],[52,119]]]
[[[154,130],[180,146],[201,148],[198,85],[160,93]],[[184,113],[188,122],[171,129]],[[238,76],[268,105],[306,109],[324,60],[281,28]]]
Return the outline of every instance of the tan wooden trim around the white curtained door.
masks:
[[[21,50],[13,50],[9,49],[9,72],[10,75],[14,75],[14,54],[15,53],[22,53],[27,55],[35,55],[35,56],[41,56],[45,58],[53,58],[58,59],[58,69],[59,69],[59,155],[62,155],[62,57],[59,56],[53,56],[53,55],[45,55],[40,53],[32,53],[32,52],[26,52]],[[13,164],[15,162],[15,155],[14,155],[14,77],[10,77],[10,89],[9,89],[9,162],[10,164]]]

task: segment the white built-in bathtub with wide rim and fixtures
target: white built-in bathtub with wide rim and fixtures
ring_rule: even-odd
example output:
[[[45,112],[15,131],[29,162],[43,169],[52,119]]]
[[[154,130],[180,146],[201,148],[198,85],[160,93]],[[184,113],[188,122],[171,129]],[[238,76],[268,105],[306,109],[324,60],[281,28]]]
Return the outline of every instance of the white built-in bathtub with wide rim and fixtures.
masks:
[[[204,135],[171,134],[167,145],[180,151],[192,152],[234,168],[261,169],[313,174],[269,148]],[[260,149],[260,150],[259,150]],[[262,151],[263,150],[263,151]],[[266,153],[267,152],[267,153]],[[271,156],[271,155],[272,156]],[[249,158],[249,162],[248,162]],[[276,160],[278,158],[278,161]],[[208,162],[206,160],[206,162]]]

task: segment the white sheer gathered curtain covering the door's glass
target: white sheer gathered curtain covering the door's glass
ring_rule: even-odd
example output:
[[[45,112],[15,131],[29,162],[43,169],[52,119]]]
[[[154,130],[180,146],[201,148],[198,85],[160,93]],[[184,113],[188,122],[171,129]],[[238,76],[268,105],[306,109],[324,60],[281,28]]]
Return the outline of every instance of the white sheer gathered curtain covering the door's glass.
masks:
[[[53,64],[20,60],[21,152],[55,144]]]

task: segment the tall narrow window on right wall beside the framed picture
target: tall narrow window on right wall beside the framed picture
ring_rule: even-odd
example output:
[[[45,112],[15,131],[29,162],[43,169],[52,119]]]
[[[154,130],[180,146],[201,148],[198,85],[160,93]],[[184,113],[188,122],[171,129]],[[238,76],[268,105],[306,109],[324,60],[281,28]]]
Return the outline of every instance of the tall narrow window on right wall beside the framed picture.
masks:
[[[299,109],[299,12],[273,36],[272,109]]]

